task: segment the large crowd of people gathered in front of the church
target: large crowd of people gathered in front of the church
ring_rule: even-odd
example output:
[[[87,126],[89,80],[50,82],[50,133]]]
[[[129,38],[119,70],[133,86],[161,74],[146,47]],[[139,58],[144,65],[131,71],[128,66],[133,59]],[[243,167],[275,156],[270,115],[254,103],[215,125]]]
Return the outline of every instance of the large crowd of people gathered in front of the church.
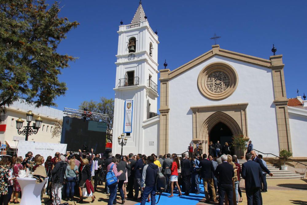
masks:
[[[198,151],[202,150],[200,146]],[[209,149],[210,146],[212,143]],[[129,199],[141,201],[142,205],[146,202],[155,204],[157,191],[170,193],[169,198],[190,193],[198,195],[201,182],[207,202],[219,201],[223,204],[225,200],[226,204],[232,205],[243,200],[239,186],[241,177],[245,179],[247,204],[262,204],[261,192],[267,191],[265,175],[272,176],[272,173],[266,168],[261,155],[249,150],[245,156],[247,162],[241,168],[235,155],[220,152],[218,147],[208,155],[199,152],[191,155],[189,151],[181,156],[174,153],[159,157],[133,153],[113,156],[110,152],[106,159],[102,159],[91,149],[90,153],[79,150],[79,154],[69,155],[56,152],[54,157],[47,157],[46,162],[43,156],[33,156],[32,152],[28,152],[25,159],[21,156],[3,157],[0,162],[0,205],[18,203],[21,189],[16,177],[20,170],[28,168],[35,171],[42,167],[49,177],[46,194],[54,205],[61,203],[62,196],[66,201],[83,203],[85,190],[87,194],[91,193],[87,198],[89,196],[94,202],[97,186],[104,182],[103,191],[110,194],[108,205],[117,203],[117,192],[122,204]],[[106,183],[108,173],[115,175],[117,183]]]

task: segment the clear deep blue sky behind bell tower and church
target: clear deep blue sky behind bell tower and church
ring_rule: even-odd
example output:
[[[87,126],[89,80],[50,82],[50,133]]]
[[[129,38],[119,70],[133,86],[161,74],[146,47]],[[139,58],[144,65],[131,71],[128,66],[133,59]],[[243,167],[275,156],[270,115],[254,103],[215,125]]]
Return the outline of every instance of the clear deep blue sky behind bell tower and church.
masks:
[[[48,1],[52,3],[53,1]],[[129,24],[139,0],[61,0],[60,16],[80,25],[60,43],[58,52],[79,57],[62,70],[67,83],[57,109],[83,101],[114,98],[118,26]],[[269,59],[272,44],[283,54],[287,97],[307,94],[307,1],[143,0],[151,28],[157,30],[158,69],[166,59],[173,70],[211,49],[216,33],[222,49]],[[160,86],[159,82],[157,83]],[[252,94],[252,93],[250,93]],[[159,104],[158,104],[159,107]]]

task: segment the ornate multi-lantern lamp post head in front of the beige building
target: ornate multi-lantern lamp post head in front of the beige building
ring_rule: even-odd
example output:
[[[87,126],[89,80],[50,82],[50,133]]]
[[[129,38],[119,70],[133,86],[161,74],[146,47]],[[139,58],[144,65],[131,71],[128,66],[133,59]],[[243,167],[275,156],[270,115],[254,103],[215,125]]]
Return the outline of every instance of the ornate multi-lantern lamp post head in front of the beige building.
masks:
[[[38,132],[38,129],[41,128],[41,123],[43,122],[43,120],[41,119],[40,116],[38,116],[35,119],[35,124],[33,124],[33,126],[30,126],[30,123],[32,122],[32,118],[33,118],[33,112],[30,110],[29,112],[27,112],[27,126],[24,127],[23,130],[20,130],[22,128],[22,124],[24,122],[24,120],[21,120],[21,117],[19,117],[18,120],[16,120],[16,128],[17,128],[17,132],[19,135],[25,135],[25,141],[28,141],[28,137],[29,135],[32,134],[36,134]]]

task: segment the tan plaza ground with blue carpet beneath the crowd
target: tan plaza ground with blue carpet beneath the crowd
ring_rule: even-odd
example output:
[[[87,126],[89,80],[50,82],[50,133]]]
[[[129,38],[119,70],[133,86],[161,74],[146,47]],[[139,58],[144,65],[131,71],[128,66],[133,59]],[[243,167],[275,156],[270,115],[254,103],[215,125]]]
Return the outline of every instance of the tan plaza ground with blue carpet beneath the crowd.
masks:
[[[307,205],[307,179],[268,179],[268,192],[262,193],[263,204],[267,205],[281,205],[281,204],[301,204]],[[243,202],[240,204],[247,204],[247,199],[244,191],[244,180],[241,181],[240,187],[243,195]],[[84,199],[84,204],[93,204],[93,205],[105,205],[108,201],[108,196],[102,193],[104,186],[98,187],[98,192],[95,192],[95,202],[90,203],[91,198]],[[169,193],[163,193],[158,204],[160,205],[171,205],[171,204],[191,204],[191,205],[199,205],[199,204],[218,204],[214,203],[205,203],[204,200],[204,187],[200,186],[201,192],[199,195],[190,194],[189,196],[177,197],[177,194],[173,198],[168,198]],[[43,199],[46,199],[46,195],[44,195]],[[78,200],[77,198],[75,198]],[[121,204],[119,202],[119,194],[117,195],[117,204]],[[65,201],[62,200],[62,203]],[[126,200],[125,205],[134,205],[140,204],[140,200]],[[69,204],[73,204],[73,202],[69,201]],[[150,205],[150,203],[146,203]]]

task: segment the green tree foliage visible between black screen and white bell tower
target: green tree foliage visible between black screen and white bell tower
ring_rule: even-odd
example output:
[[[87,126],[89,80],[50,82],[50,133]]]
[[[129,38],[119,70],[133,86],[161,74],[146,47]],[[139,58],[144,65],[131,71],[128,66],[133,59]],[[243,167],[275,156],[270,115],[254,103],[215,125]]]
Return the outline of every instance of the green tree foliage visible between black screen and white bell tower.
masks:
[[[114,118],[114,100],[105,97],[100,98],[99,102],[84,101],[80,104],[79,109],[87,109],[88,112],[98,112],[107,114],[109,117],[104,119],[103,122],[107,124],[107,139],[112,141],[113,118]]]

